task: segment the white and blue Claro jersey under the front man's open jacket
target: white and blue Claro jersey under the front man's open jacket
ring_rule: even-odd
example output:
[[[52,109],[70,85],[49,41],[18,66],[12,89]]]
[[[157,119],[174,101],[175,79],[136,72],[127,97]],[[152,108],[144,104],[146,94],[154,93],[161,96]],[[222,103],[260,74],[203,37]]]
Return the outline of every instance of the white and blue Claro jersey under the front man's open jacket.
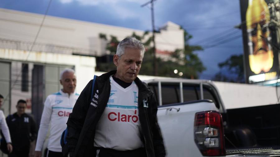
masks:
[[[94,146],[114,150],[144,147],[138,116],[138,87],[123,88],[110,77],[111,90],[106,108],[96,125]]]

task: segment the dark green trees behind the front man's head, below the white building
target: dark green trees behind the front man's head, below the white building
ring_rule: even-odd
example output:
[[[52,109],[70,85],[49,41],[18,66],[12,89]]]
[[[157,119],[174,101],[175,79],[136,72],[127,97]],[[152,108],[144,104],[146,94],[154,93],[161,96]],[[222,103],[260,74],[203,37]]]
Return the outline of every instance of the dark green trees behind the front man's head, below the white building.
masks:
[[[153,72],[153,53],[152,53],[152,37],[147,37],[149,32],[145,32],[142,36],[139,36],[133,33],[131,36],[140,40],[146,49],[143,63],[139,74],[142,75],[154,75]],[[103,34],[100,35],[100,38],[107,39]],[[163,60],[160,57],[157,57],[157,65],[158,65],[158,75],[164,77],[181,77],[181,78],[198,78],[199,74],[203,72],[206,68],[203,66],[203,63],[200,61],[197,54],[194,51],[203,50],[202,47],[198,45],[189,45],[189,40],[192,38],[190,34],[188,34],[184,30],[184,39],[185,46],[184,50],[175,50],[171,53],[168,59]],[[110,54],[115,54],[117,45],[119,41],[116,37],[111,36],[110,41],[108,41],[106,49],[110,51]],[[100,66],[100,71],[109,71],[114,70],[115,67],[113,63],[103,63],[103,67]],[[178,70],[178,73],[175,74],[174,70]],[[178,74],[182,72],[183,75],[179,76]]]

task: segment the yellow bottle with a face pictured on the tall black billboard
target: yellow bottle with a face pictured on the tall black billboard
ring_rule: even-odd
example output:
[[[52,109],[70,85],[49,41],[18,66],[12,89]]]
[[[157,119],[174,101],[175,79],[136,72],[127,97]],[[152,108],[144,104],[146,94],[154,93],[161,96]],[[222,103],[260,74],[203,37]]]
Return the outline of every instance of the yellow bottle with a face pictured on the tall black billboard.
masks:
[[[273,51],[268,43],[271,41],[269,21],[267,3],[264,0],[249,0],[246,11],[249,65],[255,74],[268,72],[273,66]]]

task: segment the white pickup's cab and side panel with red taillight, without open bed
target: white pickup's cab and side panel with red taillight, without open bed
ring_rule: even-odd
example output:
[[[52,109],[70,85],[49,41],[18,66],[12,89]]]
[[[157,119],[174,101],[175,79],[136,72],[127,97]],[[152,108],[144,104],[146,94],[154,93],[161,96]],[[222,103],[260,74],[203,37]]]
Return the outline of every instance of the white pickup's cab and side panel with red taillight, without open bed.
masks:
[[[153,79],[145,82],[159,104],[157,117],[168,156],[225,155],[220,113],[226,110],[211,81]],[[220,119],[217,126],[195,124],[209,116]],[[207,129],[217,134],[202,136]]]

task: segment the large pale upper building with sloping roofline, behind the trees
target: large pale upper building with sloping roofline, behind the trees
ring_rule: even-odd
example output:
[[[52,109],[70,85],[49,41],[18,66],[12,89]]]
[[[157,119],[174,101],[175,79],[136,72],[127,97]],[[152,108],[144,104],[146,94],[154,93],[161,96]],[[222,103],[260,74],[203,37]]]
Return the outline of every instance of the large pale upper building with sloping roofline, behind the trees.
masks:
[[[0,17],[0,47],[29,50],[44,15],[0,8]],[[46,16],[33,50],[102,56],[106,54],[106,43],[99,38],[100,33],[122,40],[133,32],[144,34],[142,30]],[[160,33],[156,33],[155,41],[159,53],[184,49],[184,30],[168,21]]]

